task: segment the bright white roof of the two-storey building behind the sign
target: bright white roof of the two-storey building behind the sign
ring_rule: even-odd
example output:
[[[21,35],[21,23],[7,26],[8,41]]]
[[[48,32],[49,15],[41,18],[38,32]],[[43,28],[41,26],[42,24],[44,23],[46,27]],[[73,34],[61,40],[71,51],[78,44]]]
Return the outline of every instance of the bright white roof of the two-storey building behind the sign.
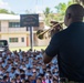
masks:
[[[0,13],[0,20],[20,20],[20,15],[18,14],[7,14]],[[40,21],[43,21],[43,17],[39,17]]]

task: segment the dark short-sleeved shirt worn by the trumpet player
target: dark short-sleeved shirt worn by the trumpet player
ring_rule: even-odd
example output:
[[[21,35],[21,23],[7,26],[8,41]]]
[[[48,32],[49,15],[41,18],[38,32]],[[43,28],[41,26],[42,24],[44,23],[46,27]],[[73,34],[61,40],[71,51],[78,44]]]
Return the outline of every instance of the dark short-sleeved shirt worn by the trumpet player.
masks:
[[[45,50],[46,55],[57,55],[61,77],[84,81],[84,22],[74,22],[55,33]]]

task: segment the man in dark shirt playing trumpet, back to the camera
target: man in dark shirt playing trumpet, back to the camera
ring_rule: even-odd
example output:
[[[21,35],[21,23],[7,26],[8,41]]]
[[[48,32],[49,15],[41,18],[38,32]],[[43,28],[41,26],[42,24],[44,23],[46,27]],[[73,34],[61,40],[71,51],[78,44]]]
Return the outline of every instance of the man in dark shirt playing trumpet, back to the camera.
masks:
[[[57,55],[60,77],[84,83],[84,8],[71,4],[65,12],[65,30],[55,33],[43,54],[44,63]]]

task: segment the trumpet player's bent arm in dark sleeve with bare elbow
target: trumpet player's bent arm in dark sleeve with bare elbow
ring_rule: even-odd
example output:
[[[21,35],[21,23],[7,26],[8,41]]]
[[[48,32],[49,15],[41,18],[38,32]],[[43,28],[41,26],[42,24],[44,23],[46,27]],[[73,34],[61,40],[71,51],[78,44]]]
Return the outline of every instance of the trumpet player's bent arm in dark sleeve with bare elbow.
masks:
[[[43,53],[43,62],[46,64],[52,61],[52,59],[59,52],[59,40],[56,35],[53,35],[50,44],[45,49],[45,52]]]

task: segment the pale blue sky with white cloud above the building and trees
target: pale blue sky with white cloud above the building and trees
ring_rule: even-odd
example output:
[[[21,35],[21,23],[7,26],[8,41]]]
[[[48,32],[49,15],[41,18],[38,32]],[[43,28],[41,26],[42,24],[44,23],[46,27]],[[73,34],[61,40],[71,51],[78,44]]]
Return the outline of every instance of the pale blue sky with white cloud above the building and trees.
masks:
[[[25,13],[29,12],[42,12],[46,7],[51,11],[56,12],[54,9],[60,2],[67,2],[69,0],[0,0],[0,8],[8,9],[15,13]]]

